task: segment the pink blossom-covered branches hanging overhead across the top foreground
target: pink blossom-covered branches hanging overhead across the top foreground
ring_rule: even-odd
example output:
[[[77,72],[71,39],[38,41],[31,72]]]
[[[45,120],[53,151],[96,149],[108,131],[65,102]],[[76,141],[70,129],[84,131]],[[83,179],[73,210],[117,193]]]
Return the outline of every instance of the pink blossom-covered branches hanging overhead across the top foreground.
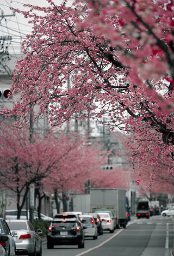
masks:
[[[3,114],[17,115],[24,126],[35,104],[40,111],[33,117],[47,114],[52,126],[74,114],[99,122],[105,115],[112,129],[132,133],[133,157],[155,166],[160,156],[172,175],[173,2],[48,2],[16,10],[30,18],[33,32],[23,41],[11,86],[20,97]]]

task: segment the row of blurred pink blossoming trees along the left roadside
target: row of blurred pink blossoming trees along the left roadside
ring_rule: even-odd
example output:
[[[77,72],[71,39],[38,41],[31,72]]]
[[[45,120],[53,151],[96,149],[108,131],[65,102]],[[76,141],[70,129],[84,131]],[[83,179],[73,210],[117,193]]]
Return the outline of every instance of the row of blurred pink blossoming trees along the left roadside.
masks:
[[[127,186],[128,177],[122,170],[101,172],[110,152],[103,151],[98,144],[89,145],[89,139],[77,133],[49,131],[33,134],[31,139],[27,129],[1,126],[0,141],[0,186],[14,194],[17,218],[26,207],[31,183],[35,184],[39,214],[45,191],[54,194],[59,211],[60,199],[65,203],[65,193],[83,193],[88,180],[93,187]]]

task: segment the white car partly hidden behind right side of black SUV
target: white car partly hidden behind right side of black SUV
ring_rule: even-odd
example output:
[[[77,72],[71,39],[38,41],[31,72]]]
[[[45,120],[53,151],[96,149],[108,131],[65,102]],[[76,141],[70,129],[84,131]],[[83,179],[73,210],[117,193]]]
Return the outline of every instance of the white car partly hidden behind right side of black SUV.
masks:
[[[97,239],[97,225],[95,224],[94,217],[90,215],[79,215],[80,221],[86,227],[85,237],[92,237],[94,240]]]

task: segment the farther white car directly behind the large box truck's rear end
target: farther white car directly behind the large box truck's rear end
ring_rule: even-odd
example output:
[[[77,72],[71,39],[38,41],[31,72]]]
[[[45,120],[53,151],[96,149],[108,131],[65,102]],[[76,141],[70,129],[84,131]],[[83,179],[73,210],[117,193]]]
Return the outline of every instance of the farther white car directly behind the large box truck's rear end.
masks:
[[[111,218],[108,212],[98,212],[98,215],[102,219],[102,228],[103,230],[109,230],[110,233],[114,233],[115,222],[114,219]]]

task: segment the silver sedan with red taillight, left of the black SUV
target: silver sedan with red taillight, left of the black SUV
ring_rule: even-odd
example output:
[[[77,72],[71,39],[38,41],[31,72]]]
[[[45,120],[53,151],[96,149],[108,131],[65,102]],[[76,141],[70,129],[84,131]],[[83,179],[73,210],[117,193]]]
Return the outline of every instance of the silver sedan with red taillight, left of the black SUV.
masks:
[[[42,255],[42,240],[39,236],[42,230],[35,231],[32,223],[27,219],[7,220],[10,230],[15,231],[16,253],[22,255],[37,256]]]

